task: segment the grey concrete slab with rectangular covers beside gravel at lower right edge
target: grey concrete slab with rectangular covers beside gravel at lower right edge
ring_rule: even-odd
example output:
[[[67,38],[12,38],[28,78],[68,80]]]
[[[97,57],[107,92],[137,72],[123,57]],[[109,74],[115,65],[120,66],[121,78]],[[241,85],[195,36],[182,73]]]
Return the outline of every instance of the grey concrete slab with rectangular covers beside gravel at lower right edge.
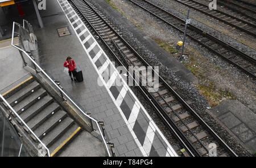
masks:
[[[222,101],[209,110],[251,152],[256,151],[256,115],[237,100]]]

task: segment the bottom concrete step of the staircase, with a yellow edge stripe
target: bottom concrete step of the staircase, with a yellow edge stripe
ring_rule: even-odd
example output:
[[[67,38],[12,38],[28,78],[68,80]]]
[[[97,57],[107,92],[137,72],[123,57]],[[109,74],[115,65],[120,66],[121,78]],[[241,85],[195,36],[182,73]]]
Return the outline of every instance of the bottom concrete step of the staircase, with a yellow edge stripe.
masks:
[[[61,153],[61,150],[65,149],[69,143],[72,143],[72,140],[75,139],[81,131],[82,129],[77,126],[77,124],[73,124],[67,132],[65,132],[58,140],[55,141],[55,143],[51,145],[51,147],[49,147],[51,156],[56,156]]]

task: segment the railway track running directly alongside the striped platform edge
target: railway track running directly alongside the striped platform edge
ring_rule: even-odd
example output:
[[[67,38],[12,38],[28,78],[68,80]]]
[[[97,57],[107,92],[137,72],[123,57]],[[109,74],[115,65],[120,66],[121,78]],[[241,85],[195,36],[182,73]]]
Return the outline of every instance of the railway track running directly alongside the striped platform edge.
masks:
[[[148,92],[152,88],[148,86],[148,83],[146,86],[142,85],[141,81],[143,77],[150,78],[143,71],[150,65],[115,31],[111,23],[96,7],[85,0],[68,0],[68,2],[94,36],[103,42],[119,65],[126,67],[126,70],[128,66],[137,66],[140,72],[139,89],[185,149],[186,156],[207,156],[210,143],[217,145],[218,156],[237,156],[189,106],[190,102],[184,101],[162,77],[158,76],[159,90],[153,93]],[[154,72],[154,69],[151,71]],[[129,77],[134,79],[134,76]]]

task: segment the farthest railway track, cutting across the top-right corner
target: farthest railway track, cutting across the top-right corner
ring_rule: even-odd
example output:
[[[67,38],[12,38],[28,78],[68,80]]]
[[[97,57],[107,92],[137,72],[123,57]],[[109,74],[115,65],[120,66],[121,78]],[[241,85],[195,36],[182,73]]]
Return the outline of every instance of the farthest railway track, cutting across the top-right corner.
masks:
[[[249,5],[247,6],[245,3],[239,3],[239,2],[233,2],[229,0],[224,0],[218,2],[218,5],[224,6],[226,8],[229,8],[232,11],[235,11],[242,15],[243,17],[250,19],[251,21],[256,21],[256,6],[255,5]],[[252,8],[251,8],[252,7]]]

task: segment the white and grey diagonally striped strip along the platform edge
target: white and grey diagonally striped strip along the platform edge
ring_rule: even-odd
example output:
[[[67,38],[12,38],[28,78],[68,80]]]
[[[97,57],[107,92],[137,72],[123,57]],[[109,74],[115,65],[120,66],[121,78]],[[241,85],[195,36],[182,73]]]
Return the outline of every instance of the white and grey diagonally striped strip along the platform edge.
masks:
[[[168,143],[163,133],[148,115],[141,102],[123,80],[114,64],[98,45],[71,5],[66,0],[58,0],[58,2],[79,37],[86,53],[90,56],[90,61],[96,68],[102,84],[105,85],[110,97],[112,97],[120,111],[143,156],[177,156],[175,150]],[[114,69],[114,71],[109,73],[110,68]],[[108,73],[109,77],[104,78],[105,73]],[[121,85],[113,85],[116,80],[121,81]]]

